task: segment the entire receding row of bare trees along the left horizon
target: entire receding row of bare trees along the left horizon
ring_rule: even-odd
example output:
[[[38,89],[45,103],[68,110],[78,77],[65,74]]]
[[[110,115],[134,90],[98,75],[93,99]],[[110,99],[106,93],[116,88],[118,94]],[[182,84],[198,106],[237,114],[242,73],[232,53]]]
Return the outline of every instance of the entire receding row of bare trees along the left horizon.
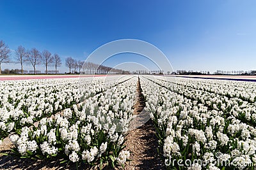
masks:
[[[36,70],[36,66],[39,64],[45,66],[45,73],[48,74],[49,66],[54,66],[55,74],[58,73],[57,68],[61,66],[61,58],[58,53],[52,54],[48,50],[44,50],[40,52],[36,48],[31,48],[27,50],[24,46],[20,45],[15,50],[15,57],[14,61],[11,59],[10,56],[11,50],[8,46],[4,43],[3,40],[0,40],[0,74],[1,71],[1,64],[3,63],[19,63],[20,69],[6,69],[7,73],[31,73],[31,71],[26,71],[23,69],[24,64],[31,64],[34,69],[34,74],[40,73],[40,71]],[[74,73],[82,73],[82,74],[127,74],[127,71],[123,71],[122,69],[115,69],[113,67],[102,66],[100,64],[94,64],[92,62],[83,62],[81,60],[73,59],[72,57],[67,57],[65,59],[65,66],[68,67],[69,73],[71,74],[71,69],[74,69]],[[52,73],[52,71],[50,71]]]

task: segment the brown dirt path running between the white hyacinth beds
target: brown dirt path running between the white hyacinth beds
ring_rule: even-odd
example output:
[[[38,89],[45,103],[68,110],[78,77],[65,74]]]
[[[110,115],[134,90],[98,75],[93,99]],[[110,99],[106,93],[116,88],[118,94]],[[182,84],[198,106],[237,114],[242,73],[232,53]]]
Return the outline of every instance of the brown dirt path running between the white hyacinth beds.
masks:
[[[134,105],[134,114],[138,115],[145,107],[144,97],[141,94],[140,78],[137,83],[137,103]],[[164,169],[157,153],[157,138],[154,124],[149,120],[141,127],[129,132],[125,142],[126,149],[131,152],[131,162],[127,162],[125,169]]]

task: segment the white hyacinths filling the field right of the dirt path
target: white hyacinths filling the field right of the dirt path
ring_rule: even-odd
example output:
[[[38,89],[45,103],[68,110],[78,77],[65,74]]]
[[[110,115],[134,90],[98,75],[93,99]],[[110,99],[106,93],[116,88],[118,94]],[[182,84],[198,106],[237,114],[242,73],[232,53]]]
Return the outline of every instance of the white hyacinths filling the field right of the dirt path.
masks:
[[[207,169],[229,161],[236,169],[251,168],[256,157],[255,83],[143,76],[145,110],[153,118],[169,157],[207,162]],[[221,151],[221,159],[216,153]],[[225,151],[225,152],[223,152]],[[256,162],[256,161],[254,161]],[[244,166],[245,165],[245,166]],[[243,167],[244,166],[244,167]],[[204,169],[192,164],[188,169]]]

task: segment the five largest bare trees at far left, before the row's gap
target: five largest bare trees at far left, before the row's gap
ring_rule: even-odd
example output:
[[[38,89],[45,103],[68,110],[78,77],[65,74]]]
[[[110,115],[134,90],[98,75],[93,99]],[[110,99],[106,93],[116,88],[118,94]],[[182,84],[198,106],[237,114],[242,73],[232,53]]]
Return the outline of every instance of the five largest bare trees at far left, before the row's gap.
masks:
[[[31,50],[26,50],[24,46],[18,46],[17,50],[15,50],[15,61],[12,61],[10,57],[11,50],[4,43],[4,41],[0,40],[0,74],[1,74],[1,64],[2,63],[19,63],[21,67],[21,74],[23,74],[23,66],[24,64],[31,64],[34,69],[34,73],[36,74],[36,66],[39,64],[43,64],[45,66],[45,73],[47,74],[48,67],[54,66],[55,73],[57,74],[57,67],[61,66],[61,59],[58,53],[54,53],[52,55],[48,50],[44,50],[42,53],[39,52],[36,48],[32,48]]]

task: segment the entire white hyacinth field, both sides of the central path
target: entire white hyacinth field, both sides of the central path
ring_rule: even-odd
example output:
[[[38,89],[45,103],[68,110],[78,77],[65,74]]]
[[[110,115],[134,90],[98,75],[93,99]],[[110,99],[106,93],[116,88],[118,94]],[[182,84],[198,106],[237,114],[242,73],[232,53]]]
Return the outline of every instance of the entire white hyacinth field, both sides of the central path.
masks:
[[[51,169],[256,167],[253,81],[108,75],[0,84],[2,169],[19,160],[57,162]],[[140,115],[145,122],[132,128]]]

